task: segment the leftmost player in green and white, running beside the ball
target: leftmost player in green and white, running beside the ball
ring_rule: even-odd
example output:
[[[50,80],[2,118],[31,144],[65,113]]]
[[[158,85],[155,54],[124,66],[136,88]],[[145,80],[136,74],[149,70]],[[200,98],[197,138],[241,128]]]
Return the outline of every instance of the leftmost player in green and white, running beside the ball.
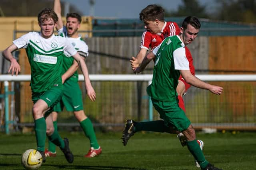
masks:
[[[65,38],[54,35],[58,16],[50,8],[44,8],[38,14],[40,32],[29,32],[13,41],[3,51],[4,57],[11,62],[8,72],[18,75],[20,64],[12,57],[12,52],[25,48],[31,67],[30,86],[32,90],[32,113],[36,133],[37,150],[45,162],[44,145],[46,135],[49,140],[60,147],[69,163],[74,156],[69,149],[68,139],[62,139],[52,123],[52,108],[63,94],[60,68],[64,51],[76,59],[84,77],[88,74],[87,66],[75,48]]]

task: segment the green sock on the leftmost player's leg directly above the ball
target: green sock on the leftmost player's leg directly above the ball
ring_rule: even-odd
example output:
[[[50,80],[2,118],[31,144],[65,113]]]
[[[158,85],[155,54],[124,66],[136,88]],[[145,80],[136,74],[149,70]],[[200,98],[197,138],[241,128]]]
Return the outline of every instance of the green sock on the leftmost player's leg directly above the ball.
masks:
[[[46,139],[46,122],[44,117],[36,119],[35,123],[35,132],[36,132],[36,145],[37,150],[44,152],[44,145]]]

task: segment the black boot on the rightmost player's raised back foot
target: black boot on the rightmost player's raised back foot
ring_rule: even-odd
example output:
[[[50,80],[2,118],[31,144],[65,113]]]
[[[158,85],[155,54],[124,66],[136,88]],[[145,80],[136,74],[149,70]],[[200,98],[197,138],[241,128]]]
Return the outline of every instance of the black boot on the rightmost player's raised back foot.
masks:
[[[132,135],[135,133],[135,128],[134,128],[134,121],[133,120],[126,120],[125,122],[125,128],[122,134],[122,143],[124,146],[127,144],[128,140]]]

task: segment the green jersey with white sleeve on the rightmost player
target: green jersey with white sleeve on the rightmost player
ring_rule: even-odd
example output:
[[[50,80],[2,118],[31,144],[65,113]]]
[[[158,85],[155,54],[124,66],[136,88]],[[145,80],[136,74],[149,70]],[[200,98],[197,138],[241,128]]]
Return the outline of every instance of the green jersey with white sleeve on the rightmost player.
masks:
[[[179,70],[189,70],[184,43],[178,35],[167,37],[153,50],[156,56],[152,84],[147,92],[155,100],[176,101]]]

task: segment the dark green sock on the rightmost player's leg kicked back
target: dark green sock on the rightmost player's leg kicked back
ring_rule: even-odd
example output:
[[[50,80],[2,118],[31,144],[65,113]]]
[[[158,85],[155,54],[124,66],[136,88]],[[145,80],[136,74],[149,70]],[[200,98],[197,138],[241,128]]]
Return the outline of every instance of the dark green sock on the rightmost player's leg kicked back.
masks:
[[[134,127],[135,127],[135,132],[152,131],[152,132],[170,133],[169,127],[164,125],[163,120],[136,122],[134,123]]]

